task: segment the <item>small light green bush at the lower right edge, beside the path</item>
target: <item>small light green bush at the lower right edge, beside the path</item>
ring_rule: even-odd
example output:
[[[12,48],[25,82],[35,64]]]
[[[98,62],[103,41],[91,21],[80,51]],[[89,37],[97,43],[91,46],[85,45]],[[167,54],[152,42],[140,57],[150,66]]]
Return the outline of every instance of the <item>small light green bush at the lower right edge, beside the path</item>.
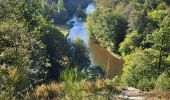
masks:
[[[170,89],[170,70],[162,73],[156,80],[156,89],[169,90]]]

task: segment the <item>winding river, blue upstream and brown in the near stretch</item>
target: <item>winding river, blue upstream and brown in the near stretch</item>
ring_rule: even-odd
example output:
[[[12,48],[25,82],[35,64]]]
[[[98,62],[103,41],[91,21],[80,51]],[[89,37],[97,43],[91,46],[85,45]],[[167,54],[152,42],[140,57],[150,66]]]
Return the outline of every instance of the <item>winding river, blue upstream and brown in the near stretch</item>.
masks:
[[[86,14],[91,14],[95,10],[93,3],[89,4],[85,9]],[[68,39],[74,39],[76,37],[82,39],[89,49],[89,56],[92,66],[101,66],[107,73],[108,78],[113,78],[116,75],[122,73],[123,60],[110,54],[106,48],[101,47],[94,40],[91,40],[88,36],[86,23],[73,17],[68,23],[74,22],[73,27],[69,31]]]

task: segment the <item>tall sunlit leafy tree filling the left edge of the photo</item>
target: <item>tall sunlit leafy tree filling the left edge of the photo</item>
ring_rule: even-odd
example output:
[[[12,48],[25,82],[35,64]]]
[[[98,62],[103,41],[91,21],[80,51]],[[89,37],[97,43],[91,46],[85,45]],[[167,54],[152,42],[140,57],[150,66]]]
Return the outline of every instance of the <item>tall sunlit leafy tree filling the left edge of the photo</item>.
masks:
[[[47,45],[43,43],[42,36],[49,31],[46,27],[52,27],[53,24],[46,15],[49,6],[44,2],[42,0],[0,1],[2,7],[0,66],[10,75],[5,75],[7,79],[9,78],[9,81],[5,81],[5,87],[14,89],[10,92],[11,96],[18,95],[18,92],[24,95],[25,89],[30,88],[28,85],[22,87],[22,79],[29,85],[41,83],[46,79],[46,69],[50,67],[50,63]],[[11,70],[15,70],[14,74]],[[17,75],[18,79],[15,79]],[[14,85],[10,83],[13,77]],[[4,83],[0,85],[3,86]],[[9,91],[8,88],[3,89]]]

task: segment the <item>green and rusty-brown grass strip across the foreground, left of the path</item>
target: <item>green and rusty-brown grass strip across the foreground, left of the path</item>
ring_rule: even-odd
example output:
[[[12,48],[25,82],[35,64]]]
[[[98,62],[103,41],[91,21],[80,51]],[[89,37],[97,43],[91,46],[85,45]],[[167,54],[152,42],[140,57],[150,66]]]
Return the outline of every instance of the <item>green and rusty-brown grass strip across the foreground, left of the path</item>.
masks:
[[[76,67],[64,70],[60,75],[60,83],[38,86],[35,97],[38,99],[82,100],[113,98],[113,94],[121,91],[118,78],[113,80],[89,79],[88,72]]]

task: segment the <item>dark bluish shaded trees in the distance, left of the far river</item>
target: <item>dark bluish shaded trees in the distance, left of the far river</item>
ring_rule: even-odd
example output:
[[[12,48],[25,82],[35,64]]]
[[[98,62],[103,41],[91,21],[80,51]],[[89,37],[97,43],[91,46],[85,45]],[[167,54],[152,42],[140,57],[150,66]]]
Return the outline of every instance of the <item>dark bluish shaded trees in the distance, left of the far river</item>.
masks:
[[[54,0],[58,13],[52,14],[55,24],[64,24],[75,13],[82,13],[92,0]],[[61,11],[59,11],[59,9]]]

